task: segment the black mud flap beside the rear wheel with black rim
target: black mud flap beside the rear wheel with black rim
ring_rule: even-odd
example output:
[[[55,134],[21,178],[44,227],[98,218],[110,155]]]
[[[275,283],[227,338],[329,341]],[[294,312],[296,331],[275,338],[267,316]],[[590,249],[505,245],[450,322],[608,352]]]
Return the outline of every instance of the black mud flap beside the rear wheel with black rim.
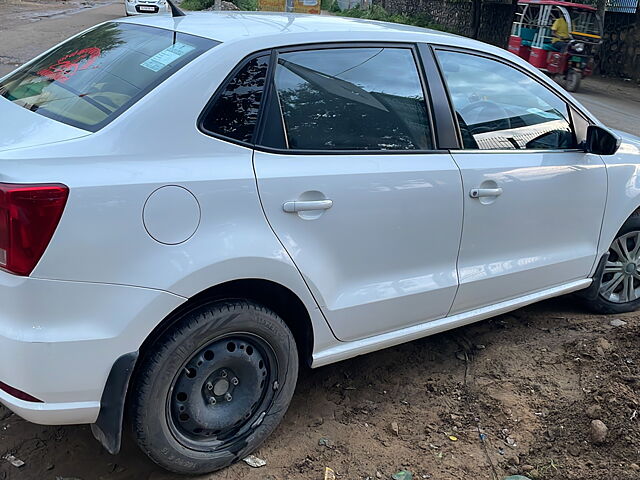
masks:
[[[122,442],[122,418],[129,380],[138,360],[138,352],[122,355],[115,361],[100,400],[100,413],[91,432],[112,455],[120,451]]]

